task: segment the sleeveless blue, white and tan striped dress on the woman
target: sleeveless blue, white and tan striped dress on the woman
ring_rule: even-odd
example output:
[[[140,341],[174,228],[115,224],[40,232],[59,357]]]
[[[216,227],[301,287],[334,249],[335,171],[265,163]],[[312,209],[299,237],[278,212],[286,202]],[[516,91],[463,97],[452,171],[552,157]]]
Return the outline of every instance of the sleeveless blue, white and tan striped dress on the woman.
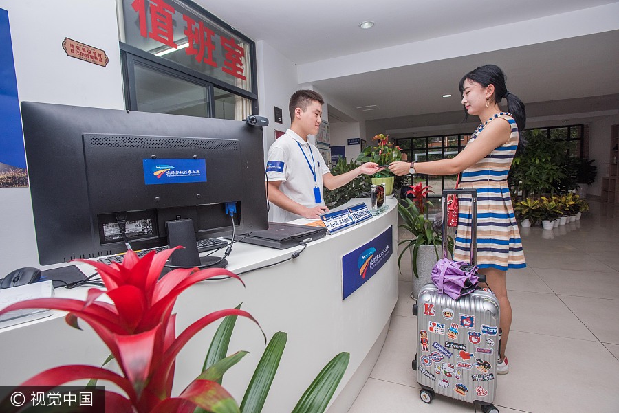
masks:
[[[492,150],[490,155],[477,164],[464,170],[459,188],[477,190],[477,266],[506,271],[510,268],[524,268],[527,265],[507,181],[519,139],[518,126],[509,113],[498,114],[488,122],[496,118],[510,122],[512,126],[510,139],[506,144]],[[471,135],[469,143],[473,142],[483,129],[483,126],[477,129]],[[468,262],[471,235],[470,197],[459,196],[458,204],[454,260]]]

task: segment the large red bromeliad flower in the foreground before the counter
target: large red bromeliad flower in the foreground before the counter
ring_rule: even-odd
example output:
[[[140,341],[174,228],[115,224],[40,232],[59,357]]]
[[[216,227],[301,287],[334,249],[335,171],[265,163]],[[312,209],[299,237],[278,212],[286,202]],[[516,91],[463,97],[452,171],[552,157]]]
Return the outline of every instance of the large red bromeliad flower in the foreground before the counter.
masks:
[[[151,252],[142,259],[129,251],[122,264],[105,265],[98,261],[80,260],[98,269],[107,291],[89,289],[86,300],[27,300],[0,311],[0,314],[32,308],[68,311],[67,324],[79,328],[78,318],[87,322],[105,342],[122,371],[120,375],[96,366],[60,366],[39,373],[21,386],[52,389],[69,381],[102,379],[116,384],[125,393],[123,396],[105,392],[106,410],[112,412],[190,413],[196,407],[214,413],[239,412],[236,401],[217,381],[227,368],[243,357],[243,352],[226,357],[217,368],[205,370],[189,383],[180,395],[171,396],[176,356],[193,335],[227,315],[241,315],[256,322],[246,311],[226,309],[200,318],[177,336],[176,315],[172,309],[180,293],[196,282],[215,276],[226,275],[241,283],[243,281],[230,271],[219,268],[202,271],[175,269],[159,279],[166,260],[174,250],[166,249],[157,254]],[[103,294],[107,294],[113,304],[96,300]],[[12,412],[18,408],[3,402],[0,410]]]

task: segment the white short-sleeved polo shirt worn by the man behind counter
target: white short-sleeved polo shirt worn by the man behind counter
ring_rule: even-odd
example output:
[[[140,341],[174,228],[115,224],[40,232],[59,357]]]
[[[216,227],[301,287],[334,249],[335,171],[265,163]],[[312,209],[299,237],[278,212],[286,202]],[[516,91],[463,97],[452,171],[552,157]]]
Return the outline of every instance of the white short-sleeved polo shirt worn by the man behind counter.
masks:
[[[312,169],[316,172],[316,181],[314,181],[314,174],[310,170],[312,161]],[[284,135],[276,139],[269,148],[266,171],[267,180],[281,181],[279,190],[292,201],[307,208],[325,205],[323,175],[330,172],[325,159],[318,152],[316,146],[310,144],[310,142],[305,142],[291,129],[288,129]],[[321,203],[316,203],[315,186],[320,190]],[[275,222],[287,222],[303,218],[301,215],[283,210],[274,204],[271,204],[271,208],[273,208],[273,220]]]

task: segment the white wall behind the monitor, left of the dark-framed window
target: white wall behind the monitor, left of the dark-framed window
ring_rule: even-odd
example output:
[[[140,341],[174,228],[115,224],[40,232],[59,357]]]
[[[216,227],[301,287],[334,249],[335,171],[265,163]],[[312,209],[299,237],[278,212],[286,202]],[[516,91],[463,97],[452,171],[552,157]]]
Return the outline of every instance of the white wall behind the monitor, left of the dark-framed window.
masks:
[[[116,5],[110,0],[0,0],[8,11],[20,101],[124,109]],[[101,67],[67,56],[65,37],[103,49]],[[0,278],[39,267],[28,188],[0,188]]]

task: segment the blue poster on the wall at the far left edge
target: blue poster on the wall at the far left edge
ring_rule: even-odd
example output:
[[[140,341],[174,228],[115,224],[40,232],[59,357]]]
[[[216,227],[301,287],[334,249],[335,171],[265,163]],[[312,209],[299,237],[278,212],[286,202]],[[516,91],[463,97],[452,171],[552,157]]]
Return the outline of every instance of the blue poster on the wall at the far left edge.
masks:
[[[8,12],[0,8],[0,188],[28,186]]]

